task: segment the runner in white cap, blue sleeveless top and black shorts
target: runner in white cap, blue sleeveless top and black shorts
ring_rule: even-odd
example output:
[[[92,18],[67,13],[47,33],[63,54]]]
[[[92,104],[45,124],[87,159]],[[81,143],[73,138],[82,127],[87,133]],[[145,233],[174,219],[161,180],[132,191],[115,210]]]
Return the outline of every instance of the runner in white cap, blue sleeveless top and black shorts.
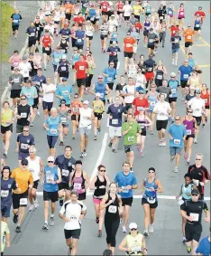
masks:
[[[44,166],[41,175],[41,184],[43,184],[43,201],[44,201],[44,219],[45,223],[42,230],[49,230],[49,202],[50,204],[50,226],[54,225],[54,213],[56,210],[56,202],[58,201],[58,190],[61,182],[60,168],[54,165],[54,157],[49,156],[47,166]]]

